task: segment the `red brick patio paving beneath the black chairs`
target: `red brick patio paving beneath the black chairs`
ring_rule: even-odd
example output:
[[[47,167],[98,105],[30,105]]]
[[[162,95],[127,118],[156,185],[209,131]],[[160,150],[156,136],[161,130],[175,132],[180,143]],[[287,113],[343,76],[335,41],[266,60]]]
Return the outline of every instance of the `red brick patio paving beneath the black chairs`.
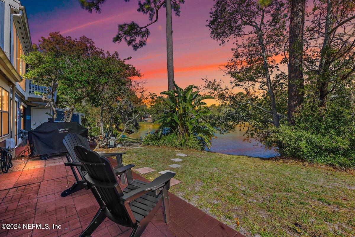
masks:
[[[9,173],[0,173],[0,222],[12,224],[52,224],[60,229],[3,229],[1,237],[78,236],[92,220],[98,204],[89,190],[61,197],[63,190],[74,182],[65,157],[38,157],[13,160]],[[113,164],[114,165],[114,164]],[[145,180],[138,174],[134,178]],[[169,193],[171,221],[166,224],[162,207],[142,237],[242,237],[240,233],[205,214],[186,201]],[[128,237],[131,229],[106,219],[92,236]]]

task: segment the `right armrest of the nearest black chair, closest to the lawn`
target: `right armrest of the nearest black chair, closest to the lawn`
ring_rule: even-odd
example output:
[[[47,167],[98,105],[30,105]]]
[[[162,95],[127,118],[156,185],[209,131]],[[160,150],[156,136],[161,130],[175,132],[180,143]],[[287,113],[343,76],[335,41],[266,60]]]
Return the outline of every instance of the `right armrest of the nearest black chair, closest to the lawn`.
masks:
[[[161,187],[165,186],[166,184],[170,183],[170,179],[173,178],[174,176],[175,176],[175,173],[166,172],[165,174],[154,179],[152,182],[148,183],[147,185],[144,185],[141,188],[137,188],[135,190],[132,190],[131,192],[126,193],[125,195],[121,196],[121,202],[130,203],[131,201],[135,200],[136,198],[139,198],[144,193],[146,193],[150,190],[156,190],[158,188],[161,188]]]

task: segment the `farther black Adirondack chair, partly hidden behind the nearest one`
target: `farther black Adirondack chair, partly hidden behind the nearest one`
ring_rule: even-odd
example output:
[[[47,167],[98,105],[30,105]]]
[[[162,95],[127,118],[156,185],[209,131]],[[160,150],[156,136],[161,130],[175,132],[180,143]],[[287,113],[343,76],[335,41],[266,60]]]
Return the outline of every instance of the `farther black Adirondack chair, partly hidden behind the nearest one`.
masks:
[[[70,134],[66,135],[65,138],[63,139],[63,144],[68,151],[68,153],[66,154],[66,158],[67,158],[68,162],[64,163],[66,166],[69,166],[68,163],[79,162],[76,155],[75,155],[75,152],[74,152],[74,146],[82,145],[82,146],[90,149],[88,140],[86,138],[84,138],[83,136],[75,134],[75,133],[70,133]],[[122,164],[122,155],[123,154],[125,154],[125,152],[103,153],[100,155],[105,156],[105,157],[115,156],[116,160],[117,160],[117,166],[114,167],[114,170],[116,170],[116,169],[123,166],[123,164]],[[70,168],[74,174],[76,182],[70,188],[64,190],[60,194],[61,196],[70,195],[70,194],[75,193],[75,192],[84,188],[84,183],[85,183],[84,175],[86,174],[84,169],[82,169],[81,167],[76,167],[76,169],[80,175],[80,178],[79,178],[78,174],[75,172],[74,167],[70,166]],[[121,174],[121,182],[123,184],[126,184],[125,174]]]

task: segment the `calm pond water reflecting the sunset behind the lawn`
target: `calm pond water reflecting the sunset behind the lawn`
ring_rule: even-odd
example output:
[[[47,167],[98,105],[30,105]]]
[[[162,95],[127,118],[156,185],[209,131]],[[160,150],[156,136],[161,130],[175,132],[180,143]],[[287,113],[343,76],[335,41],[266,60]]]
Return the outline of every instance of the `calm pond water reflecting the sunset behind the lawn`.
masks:
[[[129,135],[131,138],[144,138],[146,133],[154,131],[159,128],[157,124],[142,123],[141,129],[137,133]],[[258,144],[254,139],[245,140],[243,136],[245,128],[238,126],[235,131],[228,134],[216,134],[217,138],[212,139],[212,146],[210,151],[219,152],[229,155],[241,155],[269,158],[278,156],[279,154],[274,149],[265,149],[261,144]]]

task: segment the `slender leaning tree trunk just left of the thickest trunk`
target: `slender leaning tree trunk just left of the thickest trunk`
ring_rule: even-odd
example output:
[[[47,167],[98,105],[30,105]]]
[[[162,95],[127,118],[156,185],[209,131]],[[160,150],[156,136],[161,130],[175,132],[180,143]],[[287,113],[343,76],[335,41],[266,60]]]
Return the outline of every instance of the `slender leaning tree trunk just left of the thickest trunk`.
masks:
[[[280,119],[279,119],[279,116],[277,114],[274,91],[273,91],[272,85],[271,85],[269,66],[268,66],[267,59],[266,59],[265,45],[264,45],[264,41],[263,41],[263,38],[262,38],[263,35],[262,35],[262,32],[260,30],[258,30],[258,36],[259,36],[259,44],[260,44],[262,55],[263,55],[263,67],[264,67],[264,70],[265,70],[266,85],[267,85],[269,96],[270,96],[271,115],[272,115],[272,119],[273,119],[273,124],[275,125],[275,127],[278,128],[280,126]]]

